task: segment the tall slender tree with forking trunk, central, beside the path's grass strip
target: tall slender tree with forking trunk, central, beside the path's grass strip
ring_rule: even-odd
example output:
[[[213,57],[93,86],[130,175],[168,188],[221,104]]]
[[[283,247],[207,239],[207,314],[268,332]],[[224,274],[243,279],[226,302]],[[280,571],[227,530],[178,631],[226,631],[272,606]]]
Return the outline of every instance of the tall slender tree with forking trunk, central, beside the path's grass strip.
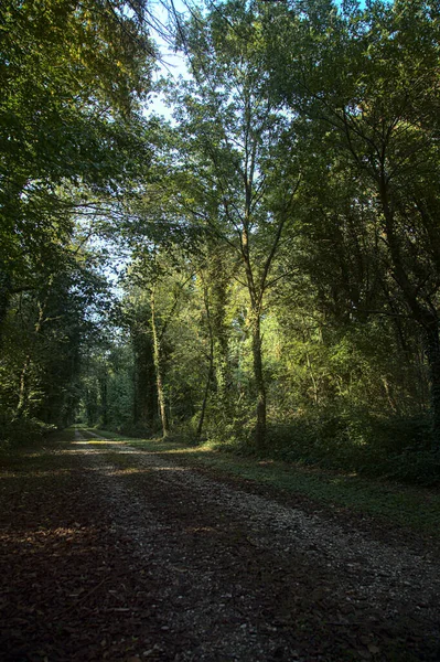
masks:
[[[222,12],[179,25],[194,82],[173,90],[178,157],[175,199],[182,214],[230,249],[249,297],[257,397],[255,441],[266,442],[261,316],[299,173],[286,160],[288,121],[270,95],[260,19],[230,2]]]

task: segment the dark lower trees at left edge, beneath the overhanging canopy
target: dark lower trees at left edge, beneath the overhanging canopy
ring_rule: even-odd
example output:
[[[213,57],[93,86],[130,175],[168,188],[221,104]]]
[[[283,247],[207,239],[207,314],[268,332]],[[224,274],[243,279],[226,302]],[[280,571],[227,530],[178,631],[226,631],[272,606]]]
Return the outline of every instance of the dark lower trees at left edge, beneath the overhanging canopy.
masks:
[[[105,287],[72,253],[56,273],[12,298],[3,321],[0,364],[2,434],[65,426],[79,398],[81,356],[92,340],[87,311]],[[31,430],[31,431],[32,431]]]

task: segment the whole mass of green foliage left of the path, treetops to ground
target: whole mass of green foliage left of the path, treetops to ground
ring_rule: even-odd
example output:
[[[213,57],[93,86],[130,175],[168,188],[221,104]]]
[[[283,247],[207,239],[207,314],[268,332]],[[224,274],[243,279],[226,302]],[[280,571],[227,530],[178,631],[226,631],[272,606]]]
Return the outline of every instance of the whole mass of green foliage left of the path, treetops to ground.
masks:
[[[130,6],[130,10],[129,10]],[[149,148],[142,2],[7,0],[0,12],[0,418],[13,440],[66,425],[103,281],[84,249]],[[129,10],[129,11],[128,11]],[[88,394],[92,416],[93,389]]]

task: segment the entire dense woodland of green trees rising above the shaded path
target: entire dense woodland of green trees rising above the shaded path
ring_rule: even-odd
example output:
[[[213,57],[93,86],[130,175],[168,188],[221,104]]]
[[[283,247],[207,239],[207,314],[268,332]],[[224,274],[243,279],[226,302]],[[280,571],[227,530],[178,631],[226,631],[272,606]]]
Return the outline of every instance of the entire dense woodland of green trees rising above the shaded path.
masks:
[[[0,9],[2,444],[438,481],[439,2],[163,8]]]

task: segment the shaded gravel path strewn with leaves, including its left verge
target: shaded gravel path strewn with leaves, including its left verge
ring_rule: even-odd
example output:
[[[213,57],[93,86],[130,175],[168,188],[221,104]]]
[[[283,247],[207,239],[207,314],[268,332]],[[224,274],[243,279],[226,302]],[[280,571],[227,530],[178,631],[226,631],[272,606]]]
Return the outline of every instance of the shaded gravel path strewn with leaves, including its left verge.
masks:
[[[440,660],[405,527],[84,430],[3,456],[0,499],[4,662]]]

